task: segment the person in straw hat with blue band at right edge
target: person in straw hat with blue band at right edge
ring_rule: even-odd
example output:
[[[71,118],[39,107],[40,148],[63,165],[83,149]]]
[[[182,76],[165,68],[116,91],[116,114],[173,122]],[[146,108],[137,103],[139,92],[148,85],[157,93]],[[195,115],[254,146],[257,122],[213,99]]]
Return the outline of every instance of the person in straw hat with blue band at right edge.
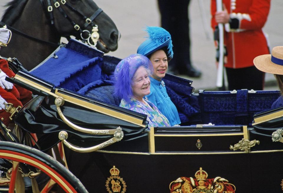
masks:
[[[271,108],[283,106],[283,46],[276,46],[271,54],[260,55],[254,58],[257,69],[274,74],[281,96],[272,104]]]

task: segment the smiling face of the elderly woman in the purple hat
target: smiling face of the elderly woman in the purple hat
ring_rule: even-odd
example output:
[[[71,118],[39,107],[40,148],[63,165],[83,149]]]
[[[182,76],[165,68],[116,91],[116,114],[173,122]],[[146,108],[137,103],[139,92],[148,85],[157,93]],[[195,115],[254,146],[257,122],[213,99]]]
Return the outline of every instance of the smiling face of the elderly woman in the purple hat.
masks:
[[[136,70],[132,81],[133,97],[142,101],[142,98],[150,93],[150,80],[147,70],[143,66],[140,66]]]

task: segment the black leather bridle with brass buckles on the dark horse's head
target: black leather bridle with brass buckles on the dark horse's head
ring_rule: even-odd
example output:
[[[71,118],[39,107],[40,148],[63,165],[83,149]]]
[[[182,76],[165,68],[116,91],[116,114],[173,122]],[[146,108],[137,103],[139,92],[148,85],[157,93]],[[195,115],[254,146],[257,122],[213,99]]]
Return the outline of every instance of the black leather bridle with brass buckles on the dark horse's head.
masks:
[[[53,7],[51,5],[51,0],[47,0],[47,5],[45,4],[44,0],[40,0],[42,6],[44,7],[44,9],[47,9],[47,13],[50,17],[50,22],[51,25],[54,27],[54,16],[53,16]],[[69,22],[73,25],[73,27],[75,28],[75,30],[80,32],[80,37],[82,42],[87,42],[91,47],[96,47],[96,44],[98,42],[99,39],[99,34],[98,34],[98,26],[96,24],[93,23],[93,20],[103,11],[101,8],[97,9],[91,17],[86,17],[85,15],[83,15],[80,11],[78,11],[77,9],[75,9],[73,6],[71,6],[70,4],[68,4],[68,2],[66,0],[61,0],[61,4],[67,6],[69,9],[71,9],[72,11],[74,11],[75,13],[77,13],[78,15],[80,15],[81,17],[83,17],[83,19],[85,20],[85,24],[83,25],[83,29],[81,29],[81,27],[76,24],[70,17],[68,17],[68,15],[65,13],[65,11],[61,8],[60,3],[57,0],[53,0],[54,2],[54,6],[55,8],[57,8],[60,13],[63,15],[63,17],[65,17],[66,19],[69,20]],[[88,30],[86,30],[86,28],[88,27],[88,25],[90,25],[93,27],[92,29],[92,33],[89,32]],[[55,27],[54,27],[55,28]],[[83,34],[87,33],[88,37],[84,38]]]

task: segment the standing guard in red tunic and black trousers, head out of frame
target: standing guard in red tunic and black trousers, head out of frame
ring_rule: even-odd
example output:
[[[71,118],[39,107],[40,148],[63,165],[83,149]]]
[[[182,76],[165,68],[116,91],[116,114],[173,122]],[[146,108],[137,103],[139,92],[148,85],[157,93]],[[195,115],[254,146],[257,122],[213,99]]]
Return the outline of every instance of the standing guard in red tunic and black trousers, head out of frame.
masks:
[[[256,56],[269,54],[262,31],[270,9],[270,0],[223,0],[223,11],[216,11],[211,0],[211,27],[225,27],[225,67],[229,90],[263,90],[264,73],[256,69]]]

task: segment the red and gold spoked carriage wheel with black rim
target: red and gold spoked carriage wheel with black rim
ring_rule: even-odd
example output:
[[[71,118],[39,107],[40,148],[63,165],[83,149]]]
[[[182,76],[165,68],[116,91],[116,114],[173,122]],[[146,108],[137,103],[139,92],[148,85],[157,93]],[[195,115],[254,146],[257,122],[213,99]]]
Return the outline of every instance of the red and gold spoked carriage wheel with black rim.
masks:
[[[0,141],[0,191],[87,193],[68,169],[37,149]]]

